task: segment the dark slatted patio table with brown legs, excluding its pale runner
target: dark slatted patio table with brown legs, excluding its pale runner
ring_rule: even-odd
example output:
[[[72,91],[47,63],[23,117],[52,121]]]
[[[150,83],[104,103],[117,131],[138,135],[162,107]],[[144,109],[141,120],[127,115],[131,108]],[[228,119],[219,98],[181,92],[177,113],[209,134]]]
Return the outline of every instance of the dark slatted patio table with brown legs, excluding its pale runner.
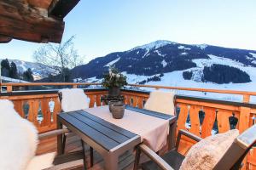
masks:
[[[170,148],[174,146],[176,116],[168,116],[131,106],[126,106],[125,109],[170,120],[169,146]],[[99,152],[105,161],[105,169],[108,170],[118,169],[119,156],[126,150],[131,150],[141,143],[139,135],[107,122],[98,116],[91,115],[86,111],[72,111],[59,114],[57,116],[57,127],[62,128],[62,125],[76,133],[86,144],[89,144]],[[57,152],[58,155],[61,155],[62,135],[59,135],[57,140]]]

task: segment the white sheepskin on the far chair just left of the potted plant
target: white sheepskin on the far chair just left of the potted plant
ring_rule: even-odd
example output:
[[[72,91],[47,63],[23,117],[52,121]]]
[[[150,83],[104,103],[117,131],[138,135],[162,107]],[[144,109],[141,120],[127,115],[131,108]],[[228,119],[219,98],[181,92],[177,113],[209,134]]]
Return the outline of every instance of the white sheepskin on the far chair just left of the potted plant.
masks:
[[[60,90],[62,94],[61,108],[62,111],[79,111],[89,108],[89,101],[80,88],[65,88]]]

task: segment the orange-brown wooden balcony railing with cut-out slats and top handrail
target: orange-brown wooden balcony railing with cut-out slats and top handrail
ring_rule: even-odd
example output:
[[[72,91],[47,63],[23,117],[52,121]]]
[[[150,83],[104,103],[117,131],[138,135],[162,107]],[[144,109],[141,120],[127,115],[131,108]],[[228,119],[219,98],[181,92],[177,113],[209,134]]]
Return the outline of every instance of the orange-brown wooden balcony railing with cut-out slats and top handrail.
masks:
[[[93,83],[3,83],[7,87],[6,93],[2,93],[0,99],[13,100],[15,109],[20,116],[33,122],[39,132],[55,129],[56,115],[61,111],[57,90],[43,91],[13,91],[16,86],[95,86]],[[256,105],[250,104],[250,97],[255,92],[201,89],[201,88],[174,88],[163,86],[130,85],[133,87],[175,89],[198,92],[211,92],[219,94],[239,94],[243,96],[243,102],[224,101],[220,99],[205,99],[177,95],[175,99],[177,114],[177,130],[187,129],[202,138],[214,133],[224,133],[237,128],[240,133],[256,123]],[[84,89],[84,93],[90,98],[90,107],[104,105],[101,96],[107,94],[105,89]],[[143,108],[148,99],[149,92],[122,90],[125,96],[125,104]],[[256,132],[255,132],[256,133]],[[183,138],[181,153],[186,153],[193,141]],[[245,159],[247,169],[256,169],[256,150],[250,150]]]

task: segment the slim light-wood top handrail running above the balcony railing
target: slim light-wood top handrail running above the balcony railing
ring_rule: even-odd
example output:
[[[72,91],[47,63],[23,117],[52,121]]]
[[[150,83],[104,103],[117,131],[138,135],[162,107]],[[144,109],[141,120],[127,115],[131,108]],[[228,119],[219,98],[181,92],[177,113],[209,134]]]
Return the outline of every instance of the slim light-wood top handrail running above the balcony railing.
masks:
[[[95,82],[4,82],[1,86],[78,86],[78,85],[102,85],[102,83]],[[218,94],[241,94],[241,95],[255,95],[256,92],[239,91],[239,90],[224,90],[224,89],[212,89],[212,88],[183,88],[183,87],[169,87],[169,86],[156,86],[156,85],[142,85],[142,84],[128,84],[131,87],[140,88],[156,88],[156,89],[172,89],[172,90],[185,90],[185,91],[197,91],[208,92]]]

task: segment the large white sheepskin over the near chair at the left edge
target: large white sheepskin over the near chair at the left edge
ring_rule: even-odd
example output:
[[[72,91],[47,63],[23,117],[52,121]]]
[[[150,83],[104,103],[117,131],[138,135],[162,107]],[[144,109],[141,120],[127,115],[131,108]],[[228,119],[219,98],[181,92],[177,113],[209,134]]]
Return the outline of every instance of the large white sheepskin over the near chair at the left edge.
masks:
[[[24,170],[35,156],[38,131],[15,111],[7,99],[0,99],[0,169]]]

